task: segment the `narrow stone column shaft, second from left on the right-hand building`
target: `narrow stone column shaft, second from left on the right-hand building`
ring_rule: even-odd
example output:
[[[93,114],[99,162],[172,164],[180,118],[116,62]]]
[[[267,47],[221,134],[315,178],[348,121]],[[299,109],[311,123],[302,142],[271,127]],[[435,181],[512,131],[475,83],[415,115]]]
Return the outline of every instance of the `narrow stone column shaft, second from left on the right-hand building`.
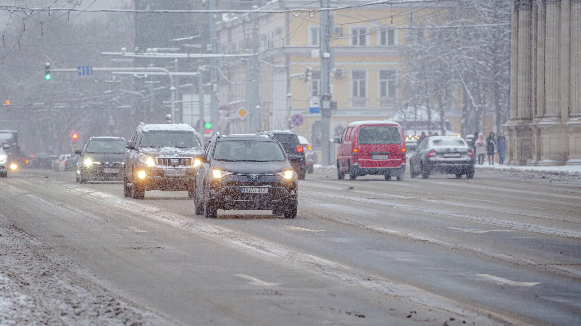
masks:
[[[544,0],[537,1],[537,100],[535,118],[543,118],[545,114],[545,84],[544,84],[544,67],[545,67],[545,16],[547,7]],[[533,45],[533,48],[535,46]]]

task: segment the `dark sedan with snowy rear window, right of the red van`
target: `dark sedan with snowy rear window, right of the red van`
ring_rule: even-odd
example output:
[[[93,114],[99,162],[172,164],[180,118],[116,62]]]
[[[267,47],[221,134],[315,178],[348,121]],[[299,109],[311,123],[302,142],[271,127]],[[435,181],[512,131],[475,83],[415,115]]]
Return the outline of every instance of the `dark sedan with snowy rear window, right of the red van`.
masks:
[[[428,179],[432,173],[474,178],[474,153],[464,139],[455,136],[426,137],[410,156],[410,175]]]

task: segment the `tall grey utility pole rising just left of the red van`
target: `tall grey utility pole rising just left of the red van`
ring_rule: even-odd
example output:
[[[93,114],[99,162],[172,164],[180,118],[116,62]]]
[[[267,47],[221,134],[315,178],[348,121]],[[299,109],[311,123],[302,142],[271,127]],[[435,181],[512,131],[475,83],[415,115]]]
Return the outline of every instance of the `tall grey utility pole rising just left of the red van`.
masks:
[[[329,8],[329,0],[320,0],[321,8]],[[331,46],[329,45],[329,10],[320,12],[319,51],[321,56],[321,144],[322,164],[331,165],[331,144],[329,143],[331,129],[331,87],[329,72],[331,70]]]

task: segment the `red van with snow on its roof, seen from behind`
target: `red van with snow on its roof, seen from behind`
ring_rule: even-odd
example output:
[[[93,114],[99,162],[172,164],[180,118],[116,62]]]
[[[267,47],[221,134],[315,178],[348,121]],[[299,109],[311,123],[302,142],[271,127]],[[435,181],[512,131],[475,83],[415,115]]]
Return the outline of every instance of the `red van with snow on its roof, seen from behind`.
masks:
[[[356,121],[347,125],[339,145],[337,176],[349,174],[354,180],[363,175],[384,175],[386,180],[403,178],[406,171],[406,143],[401,126],[393,121]]]

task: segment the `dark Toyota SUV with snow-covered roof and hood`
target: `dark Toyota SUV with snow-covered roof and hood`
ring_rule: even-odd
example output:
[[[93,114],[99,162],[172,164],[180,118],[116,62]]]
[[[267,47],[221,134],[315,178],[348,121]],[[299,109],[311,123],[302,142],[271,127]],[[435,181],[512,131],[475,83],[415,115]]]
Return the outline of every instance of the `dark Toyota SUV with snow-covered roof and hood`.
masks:
[[[194,157],[202,153],[202,146],[192,126],[141,122],[125,147],[125,197],[143,199],[146,190],[187,190],[194,196]]]

